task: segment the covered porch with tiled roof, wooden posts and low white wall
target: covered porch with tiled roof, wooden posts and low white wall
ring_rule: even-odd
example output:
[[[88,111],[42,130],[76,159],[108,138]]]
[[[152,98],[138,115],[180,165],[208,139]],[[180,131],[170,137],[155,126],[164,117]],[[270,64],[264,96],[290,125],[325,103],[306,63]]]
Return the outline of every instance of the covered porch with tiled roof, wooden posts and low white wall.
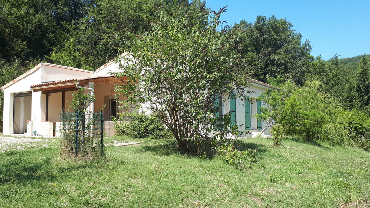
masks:
[[[102,111],[105,135],[114,135],[112,117],[117,118],[118,113],[124,111],[132,112],[133,110],[132,108],[125,110],[118,108],[115,98],[117,93],[114,91],[114,86],[122,85],[123,81],[125,81],[125,78],[119,79],[110,75],[102,75],[32,85],[32,93],[41,93],[41,100],[44,102],[44,105],[41,106],[41,112],[44,116],[41,117],[39,124],[30,119],[31,122],[28,124],[27,134],[40,135],[42,137],[58,137],[60,113],[74,113],[73,109],[70,108],[72,92],[78,90],[78,88],[83,88],[85,94],[93,94],[96,99],[94,103],[88,106],[87,110],[93,113]],[[124,99],[122,96],[119,97],[119,100]]]

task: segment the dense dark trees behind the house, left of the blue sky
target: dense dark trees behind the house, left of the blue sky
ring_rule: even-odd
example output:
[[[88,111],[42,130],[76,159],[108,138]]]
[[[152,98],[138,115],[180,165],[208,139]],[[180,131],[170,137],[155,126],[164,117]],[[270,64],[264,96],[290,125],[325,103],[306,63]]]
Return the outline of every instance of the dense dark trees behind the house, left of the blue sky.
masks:
[[[11,61],[70,63],[95,69],[114,58],[129,41],[127,33],[149,30],[158,8],[186,7],[193,16],[203,3],[174,0],[0,1],[0,58]],[[71,56],[68,46],[73,44]],[[50,59],[46,56],[53,56]],[[67,57],[63,57],[67,56]],[[82,64],[80,63],[82,60]],[[14,77],[16,78],[16,77]]]

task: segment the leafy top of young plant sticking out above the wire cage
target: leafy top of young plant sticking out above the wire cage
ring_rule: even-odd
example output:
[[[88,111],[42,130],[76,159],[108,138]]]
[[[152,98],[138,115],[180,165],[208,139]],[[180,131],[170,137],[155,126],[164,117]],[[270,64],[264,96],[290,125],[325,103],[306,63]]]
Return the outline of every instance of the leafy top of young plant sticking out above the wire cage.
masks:
[[[78,84],[76,83],[76,86]],[[94,91],[94,86],[90,86],[92,89],[91,91]],[[70,108],[73,109],[74,112],[86,112],[86,108],[93,102],[95,102],[95,95],[92,95],[90,93],[90,90],[88,93],[85,94],[85,90],[83,88],[78,88],[76,91],[72,91],[72,100],[71,102],[68,102],[70,104]]]

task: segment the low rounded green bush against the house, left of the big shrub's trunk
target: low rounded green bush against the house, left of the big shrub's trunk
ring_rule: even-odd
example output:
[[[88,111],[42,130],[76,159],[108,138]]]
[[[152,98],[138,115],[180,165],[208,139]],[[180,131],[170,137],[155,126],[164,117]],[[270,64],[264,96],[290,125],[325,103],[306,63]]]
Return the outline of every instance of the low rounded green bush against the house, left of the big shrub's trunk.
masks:
[[[129,135],[134,138],[150,137],[154,139],[170,138],[172,133],[162,125],[158,117],[145,113],[120,114],[120,122],[114,119],[114,130],[118,135]]]

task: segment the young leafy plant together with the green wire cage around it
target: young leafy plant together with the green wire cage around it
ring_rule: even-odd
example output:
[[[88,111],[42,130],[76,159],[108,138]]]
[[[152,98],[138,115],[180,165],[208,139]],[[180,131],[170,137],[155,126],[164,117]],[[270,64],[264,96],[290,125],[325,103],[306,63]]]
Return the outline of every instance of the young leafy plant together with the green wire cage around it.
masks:
[[[94,101],[95,95],[85,94],[82,88],[72,92],[69,103],[74,113],[60,114],[62,157],[92,160],[105,156],[103,114],[87,110]]]

